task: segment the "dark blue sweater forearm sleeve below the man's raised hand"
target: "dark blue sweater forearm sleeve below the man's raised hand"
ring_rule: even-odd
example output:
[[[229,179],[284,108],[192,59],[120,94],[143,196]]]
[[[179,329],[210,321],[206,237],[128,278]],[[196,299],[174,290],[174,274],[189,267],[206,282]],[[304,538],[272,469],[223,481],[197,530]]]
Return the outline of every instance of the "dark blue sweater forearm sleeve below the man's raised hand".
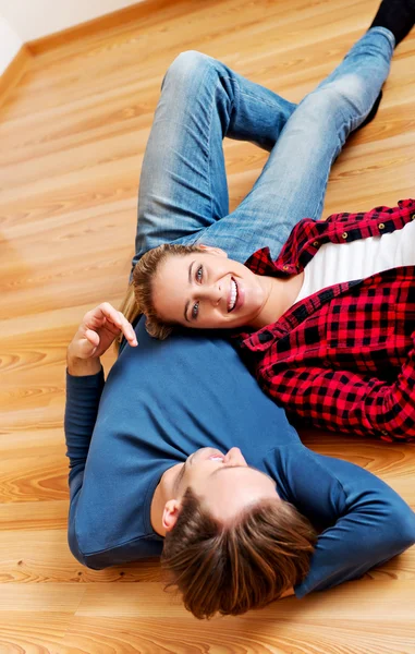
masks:
[[[96,375],[75,377],[66,371],[64,432],[70,460],[69,545],[74,557],[86,565],[76,537],[76,510],[84,482],[85,464],[105,386],[103,370]]]

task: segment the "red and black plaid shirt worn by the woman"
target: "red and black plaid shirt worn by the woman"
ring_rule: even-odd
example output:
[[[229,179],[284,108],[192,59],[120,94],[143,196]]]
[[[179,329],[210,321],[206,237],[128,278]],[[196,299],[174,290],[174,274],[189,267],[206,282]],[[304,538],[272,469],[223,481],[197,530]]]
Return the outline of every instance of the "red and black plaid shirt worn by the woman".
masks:
[[[402,229],[415,201],[366,214],[304,219],[278,259],[268,247],[246,262],[257,275],[300,272],[324,243],[346,243]],[[317,427],[415,441],[415,266],[328,287],[279,320],[239,334],[263,389]]]

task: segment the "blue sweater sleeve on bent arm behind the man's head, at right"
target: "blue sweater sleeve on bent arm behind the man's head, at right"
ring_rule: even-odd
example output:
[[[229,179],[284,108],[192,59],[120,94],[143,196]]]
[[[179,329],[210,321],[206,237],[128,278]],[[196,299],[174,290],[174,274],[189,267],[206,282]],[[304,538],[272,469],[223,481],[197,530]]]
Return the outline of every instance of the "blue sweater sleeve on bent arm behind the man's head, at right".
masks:
[[[415,543],[415,513],[385,482],[347,461],[310,457],[316,469],[303,493],[317,510],[325,497],[337,520],[319,535],[309,573],[295,586],[297,597],[362,577]]]

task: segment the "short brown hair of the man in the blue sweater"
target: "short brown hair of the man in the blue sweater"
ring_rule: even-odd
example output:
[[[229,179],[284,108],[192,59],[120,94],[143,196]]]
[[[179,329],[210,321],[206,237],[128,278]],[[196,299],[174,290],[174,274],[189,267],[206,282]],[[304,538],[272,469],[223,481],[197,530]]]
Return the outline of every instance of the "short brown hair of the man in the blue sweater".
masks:
[[[188,487],[161,565],[164,591],[175,586],[196,618],[263,608],[308,573],[317,532],[281,499],[261,500],[223,525]]]

